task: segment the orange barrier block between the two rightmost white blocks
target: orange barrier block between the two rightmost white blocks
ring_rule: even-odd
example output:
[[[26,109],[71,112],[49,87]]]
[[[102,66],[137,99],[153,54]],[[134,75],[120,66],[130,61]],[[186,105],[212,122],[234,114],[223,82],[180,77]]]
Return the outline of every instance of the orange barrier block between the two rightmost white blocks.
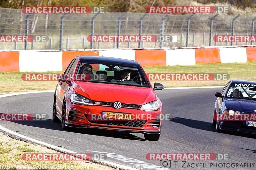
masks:
[[[195,50],[196,64],[220,63],[219,48],[199,48]]]

